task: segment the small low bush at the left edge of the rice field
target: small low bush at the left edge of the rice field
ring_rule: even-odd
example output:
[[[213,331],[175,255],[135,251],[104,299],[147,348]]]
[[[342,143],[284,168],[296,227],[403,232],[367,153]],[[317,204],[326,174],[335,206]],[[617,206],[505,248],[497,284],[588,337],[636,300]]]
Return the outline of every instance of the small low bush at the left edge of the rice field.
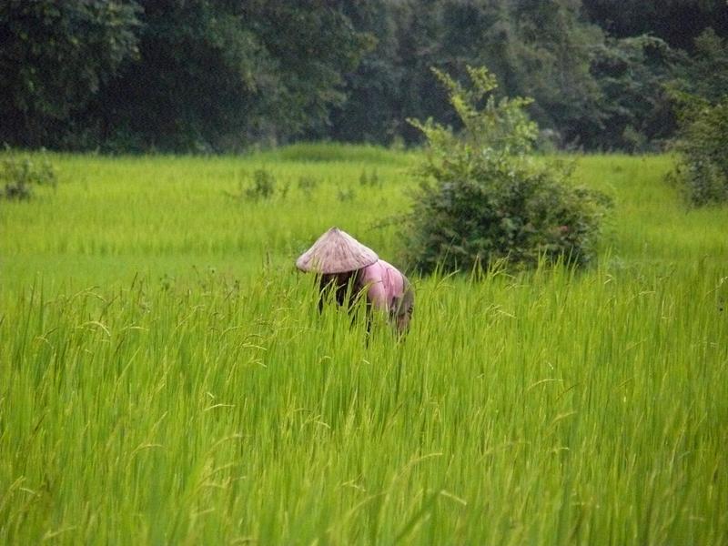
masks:
[[[0,197],[30,199],[35,186],[56,187],[57,181],[56,169],[44,155],[35,159],[19,157],[11,149],[5,148],[5,157],[0,162],[0,183],[4,185]]]

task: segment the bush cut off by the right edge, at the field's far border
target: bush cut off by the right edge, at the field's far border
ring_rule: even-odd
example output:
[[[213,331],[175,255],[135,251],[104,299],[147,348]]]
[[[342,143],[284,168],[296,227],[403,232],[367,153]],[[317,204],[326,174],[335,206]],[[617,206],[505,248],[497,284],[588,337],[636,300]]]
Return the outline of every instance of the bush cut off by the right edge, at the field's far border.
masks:
[[[670,179],[696,207],[728,202],[728,96],[713,105],[687,94],[675,97],[679,158]]]

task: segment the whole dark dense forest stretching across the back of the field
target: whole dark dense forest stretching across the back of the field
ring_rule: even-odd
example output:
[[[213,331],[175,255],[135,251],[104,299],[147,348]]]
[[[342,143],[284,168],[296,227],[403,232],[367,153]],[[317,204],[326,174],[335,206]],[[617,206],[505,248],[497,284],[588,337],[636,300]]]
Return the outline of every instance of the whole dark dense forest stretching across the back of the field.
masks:
[[[410,144],[431,68],[531,96],[545,149],[660,150],[728,89],[724,0],[0,0],[0,142],[223,152]]]

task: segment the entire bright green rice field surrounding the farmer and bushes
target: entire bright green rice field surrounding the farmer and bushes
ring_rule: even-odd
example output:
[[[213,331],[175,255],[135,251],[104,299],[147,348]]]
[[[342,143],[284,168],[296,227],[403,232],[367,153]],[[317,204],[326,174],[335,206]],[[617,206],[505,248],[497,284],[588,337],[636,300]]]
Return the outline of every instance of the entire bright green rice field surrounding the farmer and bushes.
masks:
[[[52,160],[0,202],[0,542],[728,543],[728,209],[669,157],[578,158],[590,270],[413,277],[369,344],[293,260],[397,263],[416,154]]]

